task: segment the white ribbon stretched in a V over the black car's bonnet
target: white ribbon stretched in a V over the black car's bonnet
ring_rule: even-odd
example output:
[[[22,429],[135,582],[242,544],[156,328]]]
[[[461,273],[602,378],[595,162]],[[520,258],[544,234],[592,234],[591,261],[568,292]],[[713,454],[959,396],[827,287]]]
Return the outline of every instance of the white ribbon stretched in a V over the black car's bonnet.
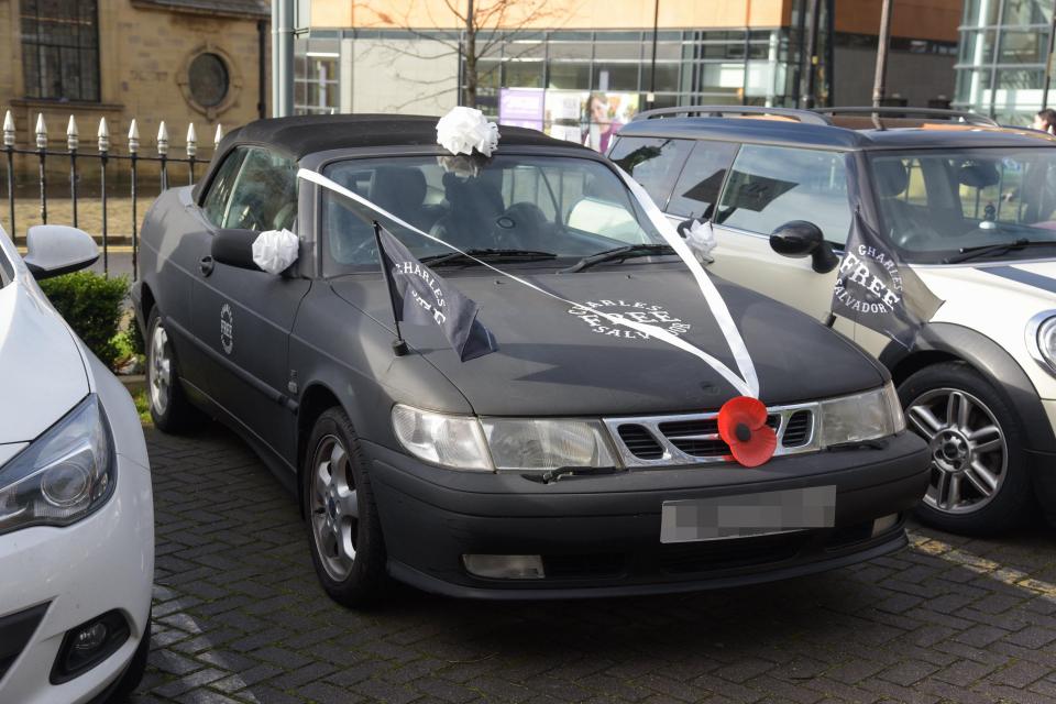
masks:
[[[623,172],[620,172],[620,174],[623,175]],[[745,342],[740,337],[740,332],[737,330],[737,326],[734,324],[734,320],[729,316],[729,309],[726,308],[726,301],[723,300],[723,297],[719,295],[718,290],[715,289],[715,286],[712,284],[711,279],[707,277],[707,274],[704,273],[704,268],[701,266],[700,262],[697,262],[696,258],[693,256],[693,254],[690,252],[689,248],[682,241],[682,238],[679,237],[678,232],[674,231],[674,228],[671,226],[671,223],[667,222],[663,215],[660,213],[660,210],[652,202],[652,200],[649,198],[648,195],[645,196],[645,201],[641,202],[642,208],[646,210],[646,215],[649,217],[650,221],[653,222],[653,226],[657,227],[657,229],[660,231],[663,238],[668,240],[668,243],[671,244],[671,246],[679,254],[679,256],[681,256],[682,260],[686,263],[686,265],[690,267],[690,271],[693,272],[693,275],[696,278],[697,285],[701,286],[701,292],[704,294],[704,299],[707,301],[708,306],[711,307],[712,315],[715,316],[715,320],[718,322],[718,327],[723,331],[723,336],[726,338],[726,343],[729,345],[729,349],[734,354],[734,359],[736,360],[737,366],[740,370],[740,373],[744,375],[744,378],[741,378],[741,376],[738,376],[733,370],[730,370],[728,366],[723,364],[721,361],[718,361],[717,359],[715,359],[704,350],[701,350],[700,348],[693,344],[690,344],[682,338],[675,334],[672,334],[671,332],[668,332],[662,328],[646,324],[644,322],[628,320],[622,316],[607,314],[602,310],[597,310],[596,308],[592,308],[591,306],[586,306],[584,304],[580,304],[574,300],[569,300],[568,298],[562,298],[561,296],[552,294],[543,288],[540,288],[539,286],[537,286],[536,284],[532,284],[529,280],[526,280],[524,278],[520,278],[519,276],[515,276],[514,274],[504,272],[501,268],[492,266],[487,262],[483,262],[476,258],[475,256],[473,256],[472,254],[468,254],[463,252],[459,248],[450,244],[449,242],[444,242],[443,240],[436,238],[429,234],[428,232],[422,232],[421,230],[410,224],[409,222],[403,220],[402,218],[398,218],[392,212],[388,212],[384,208],[376,206],[375,204],[371,202],[363,196],[349,190],[348,188],[345,188],[344,186],[341,186],[338,183],[334,183],[333,180],[327,178],[322,174],[309,170],[307,168],[301,168],[300,170],[297,172],[297,177],[302,178],[305,180],[309,180],[314,184],[322,186],[323,188],[327,188],[337,194],[340,194],[345,198],[349,198],[366,208],[370,208],[374,212],[385,218],[388,218],[389,220],[399,224],[400,227],[406,228],[411,232],[426,238],[427,240],[437,242],[438,244],[441,244],[448,248],[452,252],[458,252],[459,254],[462,254],[466,258],[472,260],[473,262],[476,262],[481,266],[485,266],[492,270],[493,272],[495,272],[496,274],[501,274],[502,276],[510,278],[517,282],[518,284],[527,286],[532,290],[539,292],[544,296],[553,298],[554,300],[559,300],[562,304],[565,304],[568,306],[572,306],[573,308],[580,308],[581,310],[585,310],[590,314],[598,316],[612,322],[613,324],[618,324],[625,328],[630,328],[631,330],[637,330],[638,332],[641,332],[650,338],[660,340],[661,342],[667,342],[668,344],[675,346],[684,352],[689,352],[690,354],[696,356],[697,359],[703,360],[708,366],[715,370],[724,380],[726,380],[734,388],[736,388],[739,394],[744,396],[751,396],[755,398],[758,398],[759,396],[759,380],[756,376],[756,367],[751,363],[751,358],[748,356],[748,349],[745,346]],[[630,186],[631,193],[634,193],[635,196],[639,199],[639,201],[641,201],[642,197],[639,194],[642,194],[642,195],[645,194],[645,190],[641,188],[641,186],[638,186],[637,183],[635,183],[632,179],[630,179],[627,176],[625,176],[625,180],[629,182],[628,186]],[[653,215],[650,211],[650,208],[652,211],[659,215],[660,221],[664,223],[663,226],[661,226],[654,220]],[[673,240],[671,238],[673,238]]]

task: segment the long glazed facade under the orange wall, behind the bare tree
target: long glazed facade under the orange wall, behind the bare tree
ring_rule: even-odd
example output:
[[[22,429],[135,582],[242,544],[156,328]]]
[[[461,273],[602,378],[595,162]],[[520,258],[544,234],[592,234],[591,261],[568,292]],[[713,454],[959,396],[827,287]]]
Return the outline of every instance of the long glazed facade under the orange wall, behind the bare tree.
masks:
[[[491,46],[477,61],[477,106],[499,114],[504,89],[546,94],[579,91],[623,96],[635,109],[678,105],[757,105],[800,102],[809,0],[792,0],[791,22],[778,28],[629,31],[481,31],[477,46]],[[826,105],[832,62],[833,0],[821,3],[815,100]],[[428,42],[460,45],[451,30],[312,28],[296,43],[295,110],[329,112],[341,105],[339,47],[348,41]],[[653,58],[654,56],[654,58]],[[460,63],[465,85],[465,63]],[[629,98],[632,97],[632,98]],[[651,100],[650,100],[651,98]]]

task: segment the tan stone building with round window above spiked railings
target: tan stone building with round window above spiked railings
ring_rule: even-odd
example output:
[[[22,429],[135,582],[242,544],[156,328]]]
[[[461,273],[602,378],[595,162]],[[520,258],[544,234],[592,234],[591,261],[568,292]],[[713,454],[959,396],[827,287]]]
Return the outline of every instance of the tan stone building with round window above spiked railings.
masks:
[[[155,152],[165,120],[182,155],[194,122],[208,157],[217,123],[264,113],[270,14],[267,0],[2,0],[0,111],[11,110],[19,147],[42,113],[65,148],[73,114],[84,151],[106,117],[124,153],[135,118],[142,152]]]

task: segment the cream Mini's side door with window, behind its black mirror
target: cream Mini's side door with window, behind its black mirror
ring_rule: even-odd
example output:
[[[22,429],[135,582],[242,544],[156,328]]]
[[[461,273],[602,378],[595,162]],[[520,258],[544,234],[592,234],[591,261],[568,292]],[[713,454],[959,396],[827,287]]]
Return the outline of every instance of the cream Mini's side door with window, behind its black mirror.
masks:
[[[708,271],[826,319],[837,271],[818,274],[811,257],[778,254],[770,234],[792,220],[806,220],[843,253],[851,223],[844,160],[828,150],[744,144],[713,217],[717,246]]]

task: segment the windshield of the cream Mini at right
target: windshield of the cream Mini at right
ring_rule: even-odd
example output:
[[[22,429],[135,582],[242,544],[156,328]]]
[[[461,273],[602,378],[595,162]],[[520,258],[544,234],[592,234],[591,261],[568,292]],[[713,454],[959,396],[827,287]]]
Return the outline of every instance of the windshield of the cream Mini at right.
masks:
[[[869,161],[881,226],[909,261],[1056,256],[1056,148],[884,152]]]

